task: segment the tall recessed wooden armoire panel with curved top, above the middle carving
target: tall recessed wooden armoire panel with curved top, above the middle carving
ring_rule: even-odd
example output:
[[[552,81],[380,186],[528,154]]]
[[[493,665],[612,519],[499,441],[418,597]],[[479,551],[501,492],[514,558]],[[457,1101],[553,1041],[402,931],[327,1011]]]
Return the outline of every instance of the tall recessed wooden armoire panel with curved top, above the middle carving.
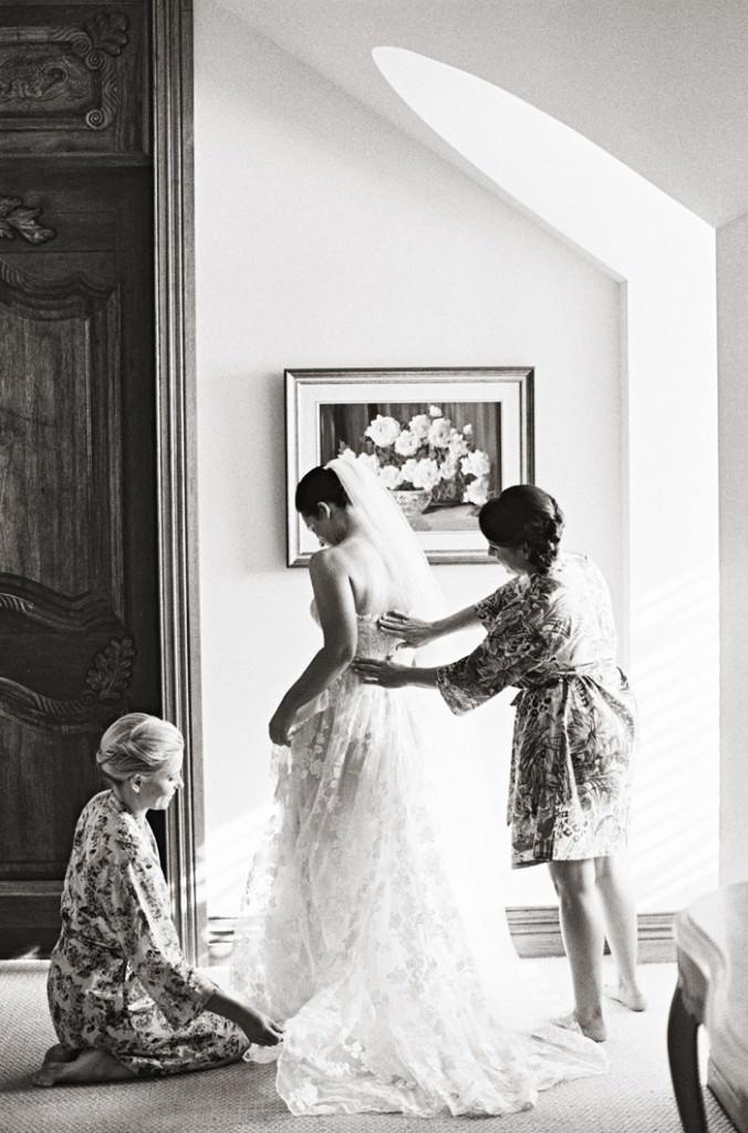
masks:
[[[117,308],[116,291],[83,274],[46,288],[17,271],[0,280],[0,563],[65,595],[110,594],[121,611]]]

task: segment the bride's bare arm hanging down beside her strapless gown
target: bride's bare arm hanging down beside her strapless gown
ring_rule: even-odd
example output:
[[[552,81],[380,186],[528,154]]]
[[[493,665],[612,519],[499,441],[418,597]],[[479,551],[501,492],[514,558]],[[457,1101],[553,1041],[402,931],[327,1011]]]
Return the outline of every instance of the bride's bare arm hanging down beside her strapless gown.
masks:
[[[289,731],[299,710],[332,684],[356,653],[354,594],[348,574],[341,569],[334,552],[314,555],[309,574],[324,641],[275,709],[270,722],[273,743],[288,743]]]

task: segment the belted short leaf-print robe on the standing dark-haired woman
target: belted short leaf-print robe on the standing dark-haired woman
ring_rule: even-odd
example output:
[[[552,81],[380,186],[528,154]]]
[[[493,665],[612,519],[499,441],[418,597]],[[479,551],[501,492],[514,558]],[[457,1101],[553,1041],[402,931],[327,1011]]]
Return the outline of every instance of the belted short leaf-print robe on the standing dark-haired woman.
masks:
[[[512,866],[626,846],[636,704],[615,665],[607,586],[587,557],[560,555],[476,605],[484,641],[437,671],[452,712],[518,688],[507,820]]]

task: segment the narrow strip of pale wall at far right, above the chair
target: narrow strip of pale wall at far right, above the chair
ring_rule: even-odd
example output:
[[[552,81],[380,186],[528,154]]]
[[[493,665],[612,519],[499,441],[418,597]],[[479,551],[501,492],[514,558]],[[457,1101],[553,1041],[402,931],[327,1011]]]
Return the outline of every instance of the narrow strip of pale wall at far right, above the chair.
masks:
[[[720,335],[720,880],[748,879],[748,215],[717,233]]]

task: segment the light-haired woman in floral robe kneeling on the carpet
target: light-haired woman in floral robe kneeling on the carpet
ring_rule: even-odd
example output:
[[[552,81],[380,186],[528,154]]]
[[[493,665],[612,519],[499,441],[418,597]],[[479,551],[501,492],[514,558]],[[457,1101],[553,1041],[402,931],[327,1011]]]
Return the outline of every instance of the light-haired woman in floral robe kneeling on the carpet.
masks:
[[[104,733],[96,763],[110,790],[78,819],[48,997],[60,1042],[36,1085],[178,1074],[237,1062],[280,1030],[192,968],[177,939],[148,810],[182,785],[181,733],[131,713]]]

